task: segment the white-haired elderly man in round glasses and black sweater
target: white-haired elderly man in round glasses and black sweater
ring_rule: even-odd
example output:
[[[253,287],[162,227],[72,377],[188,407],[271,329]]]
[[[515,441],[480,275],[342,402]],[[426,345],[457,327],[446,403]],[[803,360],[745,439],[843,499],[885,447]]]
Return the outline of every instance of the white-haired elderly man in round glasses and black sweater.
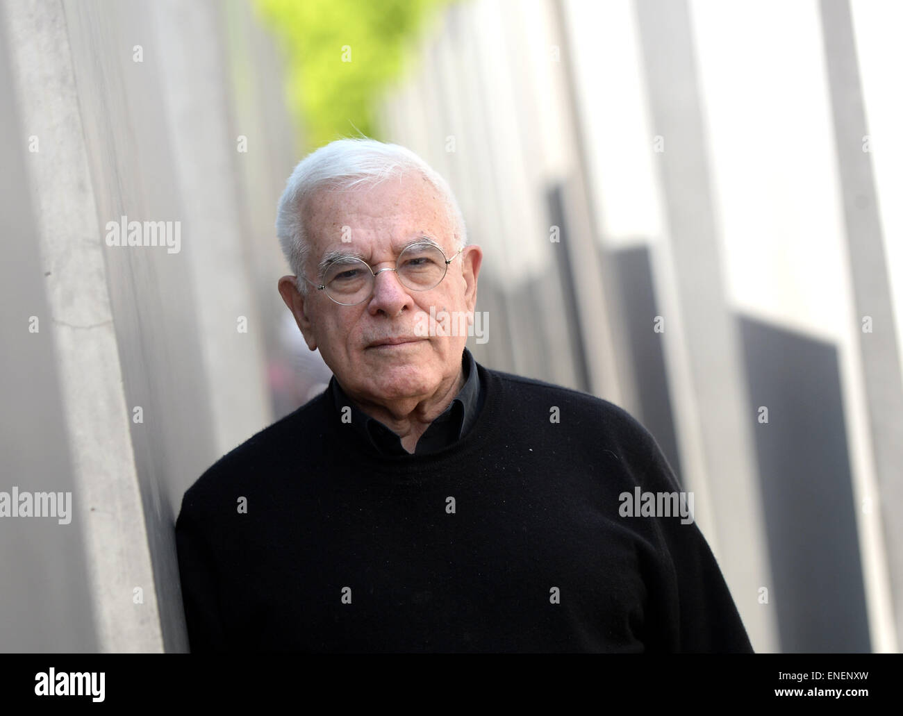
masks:
[[[333,377],[185,493],[192,651],[751,651],[692,517],[656,514],[679,488],[636,420],[424,330],[472,316],[483,258],[442,177],[339,140],[276,226]]]

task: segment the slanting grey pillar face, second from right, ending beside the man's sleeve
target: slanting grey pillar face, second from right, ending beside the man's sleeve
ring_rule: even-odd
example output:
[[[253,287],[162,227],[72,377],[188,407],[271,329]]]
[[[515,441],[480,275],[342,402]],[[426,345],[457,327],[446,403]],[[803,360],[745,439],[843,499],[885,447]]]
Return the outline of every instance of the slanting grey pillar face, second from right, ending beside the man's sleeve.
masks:
[[[721,571],[757,651],[777,650],[773,610],[758,602],[772,586],[735,317],[721,275],[693,37],[685,0],[637,0],[653,132],[662,137],[659,176],[665,199],[677,295],[685,331],[696,428],[717,525]],[[649,138],[653,141],[653,137]],[[694,476],[686,476],[693,487]],[[770,590],[770,589],[769,589]]]

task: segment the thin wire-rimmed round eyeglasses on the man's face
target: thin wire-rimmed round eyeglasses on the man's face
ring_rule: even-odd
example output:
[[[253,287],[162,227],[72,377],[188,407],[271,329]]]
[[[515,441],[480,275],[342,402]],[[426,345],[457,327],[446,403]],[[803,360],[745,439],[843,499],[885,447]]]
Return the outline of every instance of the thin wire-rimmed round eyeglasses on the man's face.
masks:
[[[398,255],[395,268],[381,268],[376,272],[356,256],[340,256],[326,266],[322,284],[315,284],[306,276],[301,278],[316,286],[318,291],[325,291],[332,301],[343,306],[356,306],[370,297],[377,274],[383,271],[395,271],[398,280],[411,291],[435,288],[445,278],[449,264],[463,250],[461,246],[452,258],[445,258],[445,253],[435,244],[411,244]]]

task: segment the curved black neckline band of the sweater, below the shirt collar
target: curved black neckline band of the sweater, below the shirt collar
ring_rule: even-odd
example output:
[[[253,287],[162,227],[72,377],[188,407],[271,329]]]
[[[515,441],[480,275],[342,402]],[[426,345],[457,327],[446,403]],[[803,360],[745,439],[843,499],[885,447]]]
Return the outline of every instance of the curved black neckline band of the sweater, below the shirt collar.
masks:
[[[364,465],[380,473],[414,474],[429,472],[437,467],[453,465],[467,460],[474,451],[479,451],[490,442],[498,432],[498,414],[501,412],[503,391],[501,379],[489,368],[476,364],[480,377],[485,379],[486,395],[482,410],[476,421],[464,437],[452,442],[442,449],[425,455],[408,453],[405,455],[384,455],[375,451],[361,439],[358,431],[349,430],[348,437],[340,435],[340,416],[329,400],[324,400],[328,414],[327,421],[332,425],[330,430],[333,448],[337,451],[354,454]],[[328,395],[327,395],[328,397]],[[348,426],[350,427],[350,426]]]

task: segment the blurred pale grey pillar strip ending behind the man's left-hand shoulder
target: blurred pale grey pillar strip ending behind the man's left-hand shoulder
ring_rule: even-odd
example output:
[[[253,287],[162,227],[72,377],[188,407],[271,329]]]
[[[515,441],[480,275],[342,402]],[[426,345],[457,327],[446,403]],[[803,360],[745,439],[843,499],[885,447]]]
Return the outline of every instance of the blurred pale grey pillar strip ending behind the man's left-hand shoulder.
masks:
[[[242,144],[230,131],[224,26],[215,0],[163,0],[153,8],[173,170],[182,196],[191,197],[183,205],[192,239],[185,252],[199,302],[214,445],[223,454],[271,418],[265,331],[248,289],[250,242],[241,235],[246,225],[236,180]]]

